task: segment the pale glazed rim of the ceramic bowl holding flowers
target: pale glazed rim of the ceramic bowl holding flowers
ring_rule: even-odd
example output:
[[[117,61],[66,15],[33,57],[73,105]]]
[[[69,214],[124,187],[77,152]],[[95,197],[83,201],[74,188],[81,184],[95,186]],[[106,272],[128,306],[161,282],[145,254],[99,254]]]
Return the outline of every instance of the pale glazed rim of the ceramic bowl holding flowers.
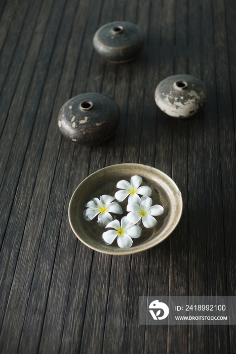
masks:
[[[130,168],[137,168],[137,169],[142,169],[147,170],[147,172],[150,174],[156,174],[156,176],[158,176],[158,178],[160,178],[160,180],[165,181],[166,184],[168,184],[168,187],[171,189],[171,191],[173,192],[173,195],[175,197],[175,201],[176,201],[176,208],[175,208],[175,217],[174,220],[171,222],[169,229],[164,232],[164,235],[161,239],[152,239],[147,241],[145,244],[143,245],[139,245],[136,246],[135,248],[131,247],[131,248],[119,248],[119,249],[111,249],[109,250],[108,248],[104,249],[100,249],[99,247],[96,247],[94,245],[91,245],[89,242],[86,242],[83,239],[83,236],[80,236],[80,234],[77,233],[77,231],[75,230],[74,226],[73,226],[73,213],[75,212],[75,205],[74,205],[74,199],[75,197],[77,197],[77,191],[78,189],[81,189],[81,187],[87,183],[87,181],[89,179],[93,179],[94,176],[96,174],[99,173],[103,173],[106,171],[114,171],[114,170],[120,170],[120,172],[122,172],[122,170],[127,171],[127,169]],[[132,173],[132,172],[131,172]],[[75,191],[73,192],[70,202],[69,202],[69,207],[68,207],[68,218],[69,218],[69,224],[70,227],[73,231],[73,233],[75,234],[75,236],[83,243],[85,244],[87,247],[100,252],[100,253],[105,253],[105,254],[112,254],[112,255],[127,255],[127,254],[135,254],[135,253],[139,253],[139,252],[143,252],[146,251],[156,245],[158,245],[159,243],[163,242],[166,238],[168,238],[170,236],[170,234],[174,231],[174,229],[177,227],[179,220],[181,218],[182,215],[182,211],[183,211],[183,200],[182,200],[182,194],[178,188],[178,186],[176,185],[176,183],[164,172],[162,172],[161,170],[152,167],[152,166],[148,166],[148,165],[143,165],[143,164],[139,164],[139,163],[121,163],[121,164],[114,164],[114,165],[110,165],[110,166],[106,166],[103,167],[93,173],[91,173],[90,175],[88,175],[75,189]],[[107,245],[106,245],[107,246]],[[137,249],[138,248],[138,249]]]

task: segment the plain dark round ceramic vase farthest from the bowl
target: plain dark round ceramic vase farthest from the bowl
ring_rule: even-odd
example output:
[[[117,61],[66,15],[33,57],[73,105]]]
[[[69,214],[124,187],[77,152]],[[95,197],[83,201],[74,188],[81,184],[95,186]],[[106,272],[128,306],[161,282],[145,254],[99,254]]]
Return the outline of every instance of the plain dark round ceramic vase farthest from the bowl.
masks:
[[[134,23],[110,22],[100,27],[93,37],[96,52],[111,63],[126,63],[141,51],[144,36]]]

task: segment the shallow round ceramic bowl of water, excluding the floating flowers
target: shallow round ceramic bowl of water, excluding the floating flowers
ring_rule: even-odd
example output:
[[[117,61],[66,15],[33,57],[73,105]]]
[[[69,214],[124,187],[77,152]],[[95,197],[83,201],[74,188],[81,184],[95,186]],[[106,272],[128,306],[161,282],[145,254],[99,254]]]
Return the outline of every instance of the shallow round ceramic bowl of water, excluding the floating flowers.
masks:
[[[152,204],[160,204],[164,212],[155,216],[157,224],[146,229],[140,223],[141,236],[133,239],[131,248],[122,249],[117,245],[116,239],[111,245],[106,245],[102,240],[103,232],[107,231],[97,223],[97,217],[86,220],[83,212],[86,203],[93,198],[99,198],[103,194],[114,196],[119,189],[116,183],[121,180],[130,182],[132,175],[141,176],[142,186],[149,186],[152,190]],[[122,215],[115,215],[121,219],[127,214],[126,206],[128,198],[119,202],[123,209]],[[164,172],[141,164],[123,163],[102,168],[89,175],[74,191],[69,203],[69,223],[77,238],[86,246],[95,251],[107,254],[132,254],[145,251],[164,241],[176,228],[182,214],[182,196],[175,182]]]

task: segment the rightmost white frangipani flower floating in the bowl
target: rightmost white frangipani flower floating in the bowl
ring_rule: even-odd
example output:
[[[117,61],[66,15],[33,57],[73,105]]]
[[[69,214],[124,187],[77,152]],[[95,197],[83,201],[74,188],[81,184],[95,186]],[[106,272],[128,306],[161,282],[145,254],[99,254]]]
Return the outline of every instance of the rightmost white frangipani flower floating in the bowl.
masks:
[[[156,219],[152,216],[161,215],[164,211],[161,205],[153,205],[152,200],[149,197],[139,198],[139,202],[130,202],[127,205],[127,219],[133,223],[137,224],[140,219],[142,219],[143,226],[147,229],[153,228],[155,226]]]

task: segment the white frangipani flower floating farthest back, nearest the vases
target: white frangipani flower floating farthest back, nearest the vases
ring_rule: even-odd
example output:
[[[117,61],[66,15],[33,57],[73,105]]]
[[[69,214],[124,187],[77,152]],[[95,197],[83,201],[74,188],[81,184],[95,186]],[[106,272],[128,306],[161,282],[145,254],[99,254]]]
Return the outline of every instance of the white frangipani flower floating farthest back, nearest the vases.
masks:
[[[117,199],[119,202],[123,202],[123,200],[125,200],[126,197],[129,195],[128,202],[137,202],[139,198],[138,194],[149,197],[151,195],[150,187],[139,187],[142,181],[142,178],[137,175],[131,177],[130,183],[125,180],[119,181],[116,184],[116,187],[120,188],[121,191],[117,191],[115,193],[115,199]]]

